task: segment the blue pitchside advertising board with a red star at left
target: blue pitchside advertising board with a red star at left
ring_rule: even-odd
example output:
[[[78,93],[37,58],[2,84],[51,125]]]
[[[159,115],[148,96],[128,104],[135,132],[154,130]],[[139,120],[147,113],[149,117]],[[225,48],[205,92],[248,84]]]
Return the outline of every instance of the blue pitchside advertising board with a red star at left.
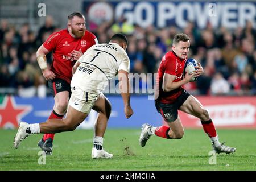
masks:
[[[112,114],[109,118],[108,127],[141,127],[145,122],[162,125],[162,118],[156,112],[154,100],[148,100],[148,96],[131,97],[134,115],[129,119],[126,119],[124,115],[122,97],[107,97],[112,104]],[[0,104],[0,128],[18,127],[20,121],[28,123],[44,122],[51,114],[53,105],[52,97],[40,99],[6,96]],[[92,129],[96,117],[96,111],[92,110],[79,128]]]

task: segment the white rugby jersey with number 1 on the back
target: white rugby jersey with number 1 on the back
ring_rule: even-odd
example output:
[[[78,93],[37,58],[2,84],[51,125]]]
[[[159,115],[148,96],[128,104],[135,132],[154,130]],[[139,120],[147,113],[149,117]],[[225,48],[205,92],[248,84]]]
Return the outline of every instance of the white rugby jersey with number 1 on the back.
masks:
[[[101,93],[119,70],[130,71],[129,57],[117,43],[96,44],[78,61],[81,64],[72,77],[71,86],[89,93]]]

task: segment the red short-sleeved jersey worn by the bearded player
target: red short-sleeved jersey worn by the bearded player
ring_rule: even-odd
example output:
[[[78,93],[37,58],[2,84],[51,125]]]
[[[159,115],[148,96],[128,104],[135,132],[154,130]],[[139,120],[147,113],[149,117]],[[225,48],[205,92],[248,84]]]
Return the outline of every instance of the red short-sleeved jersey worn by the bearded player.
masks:
[[[64,29],[51,34],[43,45],[48,51],[53,51],[51,71],[55,73],[56,78],[61,78],[70,84],[72,67],[76,63],[76,61],[72,61],[71,52],[73,50],[79,51],[81,48],[82,53],[84,53],[97,43],[98,40],[92,32],[86,30],[82,38],[73,38],[68,29]]]

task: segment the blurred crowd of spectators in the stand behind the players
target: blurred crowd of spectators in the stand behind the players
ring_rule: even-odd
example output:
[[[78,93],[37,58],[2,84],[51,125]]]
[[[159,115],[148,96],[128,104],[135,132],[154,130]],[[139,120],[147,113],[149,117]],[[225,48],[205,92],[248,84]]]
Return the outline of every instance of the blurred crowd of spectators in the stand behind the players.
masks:
[[[39,31],[33,32],[28,24],[16,29],[7,20],[0,22],[0,89],[13,88],[20,97],[46,97],[47,82],[36,61],[36,51],[52,32],[59,31],[51,16]],[[256,94],[256,30],[251,22],[245,27],[217,30],[210,23],[199,30],[193,22],[180,30],[170,26],[142,28],[129,24],[121,17],[115,22],[97,25],[86,22],[99,43],[122,32],[129,39],[127,54],[131,73],[156,73],[162,56],[171,50],[172,38],[179,32],[190,36],[189,56],[201,63],[204,75],[189,82],[184,88],[201,95],[255,95]],[[52,55],[47,55],[50,65]],[[146,79],[142,78],[142,82]],[[143,84],[142,84],[143,85]]]

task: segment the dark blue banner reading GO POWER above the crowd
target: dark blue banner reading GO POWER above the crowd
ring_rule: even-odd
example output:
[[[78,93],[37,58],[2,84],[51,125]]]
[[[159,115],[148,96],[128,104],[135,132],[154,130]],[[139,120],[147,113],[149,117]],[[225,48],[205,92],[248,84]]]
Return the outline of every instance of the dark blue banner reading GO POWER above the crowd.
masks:
[[[184,28],[189,21],[198,28],[244,27],[250,20],[256,27],[255,1],[84,1],[88,22],[101,24],[121,16],[141,27],[176,26]]]

